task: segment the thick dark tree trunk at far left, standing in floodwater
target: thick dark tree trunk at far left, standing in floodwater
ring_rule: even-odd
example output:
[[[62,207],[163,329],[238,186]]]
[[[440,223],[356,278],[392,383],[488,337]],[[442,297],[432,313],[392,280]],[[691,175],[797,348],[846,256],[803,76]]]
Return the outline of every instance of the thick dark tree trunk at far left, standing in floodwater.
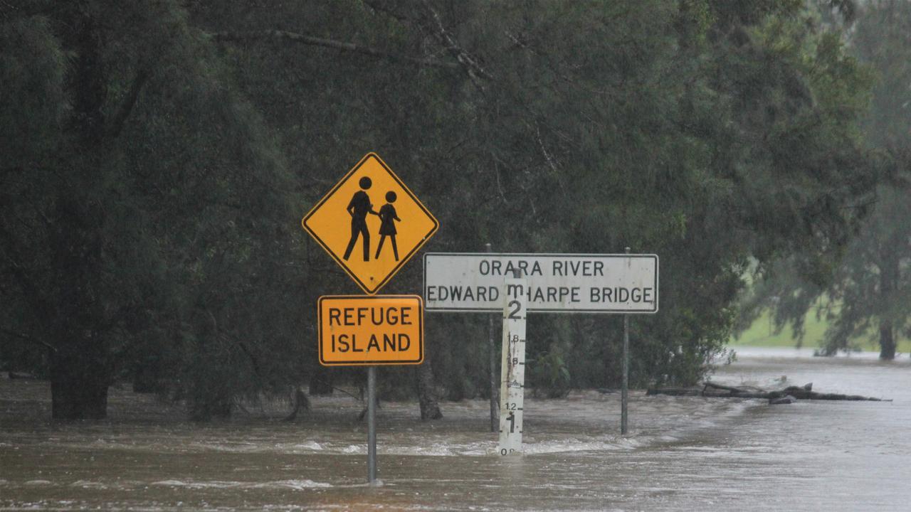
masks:
[[[56,274],[56,307],[50,329],[56,342],[50,353],[51,415],[67,420],[102,419],[107,417],[107,388],[113,381],[107,343],[98,333],[99,325],[105,323],[104,306],[98,299],[102,295],[100,225],[104,212],[86,198],[100,186],[97,150],[104,132],[107,87],[95,21],[80,14],[71,26],[76,30],[69,36],[77,48],[70,75],[71,118],[82,157],[61,169],[68,179],[56,191],[50,234]]]

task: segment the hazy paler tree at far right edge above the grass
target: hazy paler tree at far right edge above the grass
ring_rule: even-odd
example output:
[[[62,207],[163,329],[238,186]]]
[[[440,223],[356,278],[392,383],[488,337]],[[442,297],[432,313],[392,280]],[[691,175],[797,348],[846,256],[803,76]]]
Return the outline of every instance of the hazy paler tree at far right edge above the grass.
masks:
[[[847,349],[853,338],[870,335],[888,360],[898,338],[911,336],[911,4],[865,5],[854,43],[877,73],[865,134],[871,164],[885,180],[827,290],[841,307],[825,348]]]

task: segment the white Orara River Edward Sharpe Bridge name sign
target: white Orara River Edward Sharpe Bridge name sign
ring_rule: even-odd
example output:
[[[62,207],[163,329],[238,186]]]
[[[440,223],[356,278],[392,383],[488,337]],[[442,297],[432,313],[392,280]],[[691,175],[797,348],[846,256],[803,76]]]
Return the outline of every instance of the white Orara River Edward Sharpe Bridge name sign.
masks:
[[[490,252],[425,253],[425,311],[497,311],[513,271],[527,279],[528,312],[658,312],[655,254]]]

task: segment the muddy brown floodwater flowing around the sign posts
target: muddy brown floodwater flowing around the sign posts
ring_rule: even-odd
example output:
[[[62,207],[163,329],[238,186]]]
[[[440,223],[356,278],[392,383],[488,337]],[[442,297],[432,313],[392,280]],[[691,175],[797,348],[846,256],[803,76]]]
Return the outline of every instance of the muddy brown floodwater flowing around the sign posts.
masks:
[[[115,388],[101,423],[49,421],[48,385],[0,382],[0,510],[908,510],[911,364],[875,354],[814,358],[741,349],[727,384],[814,383],[893,402],[799,402],[632,393],[528,398],[524,456],[493,455],[485,401],[413,403],[377,415],[378,474],[366,479],[361,404],[315,398],[287,424],[261,410],[195,425],[173,406]],[[265,407],[265,406],[264,406]],[[279,415],[278,406],[264,408]]]

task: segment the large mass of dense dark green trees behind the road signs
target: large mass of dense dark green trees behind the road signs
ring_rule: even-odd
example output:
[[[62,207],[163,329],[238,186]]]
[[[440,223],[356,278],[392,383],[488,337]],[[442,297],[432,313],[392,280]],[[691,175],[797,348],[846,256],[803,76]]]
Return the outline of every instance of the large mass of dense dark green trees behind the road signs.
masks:
[[[879,177],[829,4],[5,4],[0,358],[58,417],[121,377],[207,418],[324,374],[313,304],[357,290],[299,221],[367,151],[441,221],[427,249],[659,254],[639,384],[701,376],[750,261],[832,267]],[[529,322],[533,385],[619,381],[618,318]],[[486,318],[426,338],[387,384],[485,393]]]

